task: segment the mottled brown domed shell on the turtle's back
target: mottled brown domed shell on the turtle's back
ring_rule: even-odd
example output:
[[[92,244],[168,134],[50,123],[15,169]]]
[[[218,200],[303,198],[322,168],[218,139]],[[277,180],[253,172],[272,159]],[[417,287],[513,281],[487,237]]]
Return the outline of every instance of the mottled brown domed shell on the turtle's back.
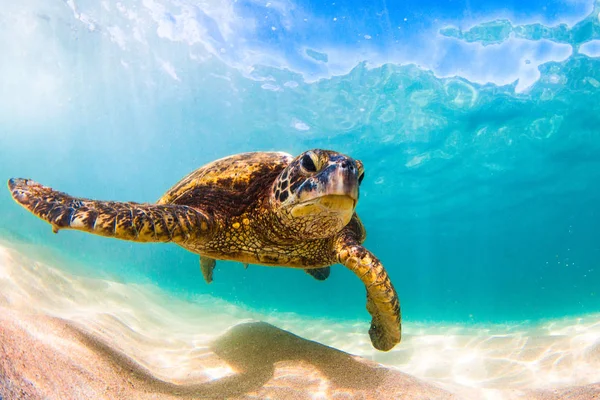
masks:
[[[158,204],[202,207],[236,215],[270,190],[294,158],[283,152],[252,152],[221,158],[198,168],[169,189]]]

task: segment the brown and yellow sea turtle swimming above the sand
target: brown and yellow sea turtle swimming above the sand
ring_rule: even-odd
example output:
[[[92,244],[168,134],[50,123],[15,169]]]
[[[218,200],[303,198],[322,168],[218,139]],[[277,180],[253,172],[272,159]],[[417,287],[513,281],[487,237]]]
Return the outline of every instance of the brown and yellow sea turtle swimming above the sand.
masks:
[[[237,154],[207,164],[156,204],[71,197],[28,179],[11,179],[13,198],[54,232],[77,229],[135,242],[174,242],[200,254],[210,282],[215,260],[301,268],[323,280],[340,263],[367,289],[376,349],[400,342],[398,296],[381,262],[361,244],[355,213],[363,164],[329,150],[293,157]]]

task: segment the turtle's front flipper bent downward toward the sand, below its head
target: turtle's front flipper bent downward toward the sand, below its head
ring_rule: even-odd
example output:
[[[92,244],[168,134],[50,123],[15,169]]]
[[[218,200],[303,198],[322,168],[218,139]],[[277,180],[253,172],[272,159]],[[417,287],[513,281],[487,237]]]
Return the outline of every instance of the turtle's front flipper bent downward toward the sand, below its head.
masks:
[[[377,257],[356,242],[339,240],[336,250],[337,261],[354,272],[367,289],[367,311],[372,316],[369,336],[373,347],[391,350],[400,343],[402,321],[400,301],[385,268]]]

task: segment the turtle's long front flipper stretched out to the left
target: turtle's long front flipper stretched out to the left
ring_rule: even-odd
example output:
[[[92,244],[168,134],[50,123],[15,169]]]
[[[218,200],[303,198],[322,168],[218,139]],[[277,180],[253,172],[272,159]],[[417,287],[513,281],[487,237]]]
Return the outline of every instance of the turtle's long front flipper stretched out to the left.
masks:
[[[210,218],[188,206],[75,198],[28,179],[10,179],[8,188],[55,233],[76,229],[136,242],[181,243],[208,235],[212,226]]]

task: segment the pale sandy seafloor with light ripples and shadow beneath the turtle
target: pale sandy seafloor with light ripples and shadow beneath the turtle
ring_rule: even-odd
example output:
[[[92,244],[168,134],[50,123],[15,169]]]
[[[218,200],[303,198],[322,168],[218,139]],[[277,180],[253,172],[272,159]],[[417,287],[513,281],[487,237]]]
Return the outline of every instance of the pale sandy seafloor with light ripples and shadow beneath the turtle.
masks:
[[[0,246],[5,399],[600,398],[600,314],[405,321],[402,343],[382,353],[366,315],[308,319],[182,300],[151,284],[67,272],[41,254]]]

